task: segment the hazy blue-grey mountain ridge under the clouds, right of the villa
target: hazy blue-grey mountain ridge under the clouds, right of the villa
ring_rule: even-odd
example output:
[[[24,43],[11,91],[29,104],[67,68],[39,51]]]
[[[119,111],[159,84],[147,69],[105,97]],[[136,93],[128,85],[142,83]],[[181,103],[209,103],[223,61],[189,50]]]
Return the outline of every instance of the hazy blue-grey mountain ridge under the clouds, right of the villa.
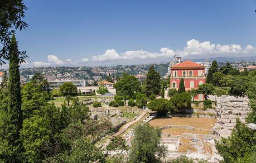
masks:
[[[207,58],[202,59],[189,59],[193,62],[204,62]],[[256,56],[249,56],[249,57],[214,57],[208,58],[208,60],[213,61],[216,60],[217,62],[235,62],[235,61],[256,61]]]

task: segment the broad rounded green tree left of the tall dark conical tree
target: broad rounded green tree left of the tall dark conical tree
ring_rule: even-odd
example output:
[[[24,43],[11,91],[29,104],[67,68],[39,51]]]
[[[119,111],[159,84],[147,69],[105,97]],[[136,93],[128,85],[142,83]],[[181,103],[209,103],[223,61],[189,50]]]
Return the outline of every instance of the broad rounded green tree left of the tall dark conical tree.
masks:
[[[122,73],[120,79],[114,84],[114,88],[117,95],[132,97],[135,92],[140,91],[140,82],[135,76]]]

